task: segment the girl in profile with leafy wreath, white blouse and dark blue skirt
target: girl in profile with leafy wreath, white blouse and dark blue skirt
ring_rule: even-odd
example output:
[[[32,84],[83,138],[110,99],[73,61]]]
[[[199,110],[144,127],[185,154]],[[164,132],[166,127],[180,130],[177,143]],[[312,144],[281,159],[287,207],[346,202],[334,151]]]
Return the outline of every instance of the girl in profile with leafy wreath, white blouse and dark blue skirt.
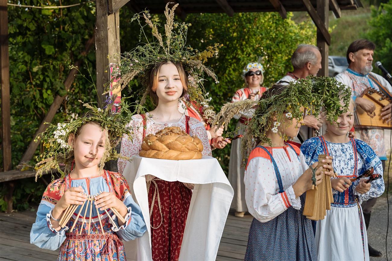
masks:
[[[226,104],[218,114],[216,124],[220,125],[238,111],[255,110],[241,141],[243,158],[247,158],[245,200],[254,216],[245,260],[317,258],[311,221],[302,214],[304,193],[320,184],[324,173],[334,175],[332,160],[326,157],[323,165],[317,168],[316,162],[312,170],[299,148],[286,141],[298,134],[307,108],[319,108],[328,99],[328,104],[339,104],[319,95],[326,90],[338,91],[338,86],[328,81],[315,77],[290,82],[288,86],[276,84],[259,101]],[[338,112],[336,106],[328,109],[330,115]],[[254,149],[249,153],[248,148]]]

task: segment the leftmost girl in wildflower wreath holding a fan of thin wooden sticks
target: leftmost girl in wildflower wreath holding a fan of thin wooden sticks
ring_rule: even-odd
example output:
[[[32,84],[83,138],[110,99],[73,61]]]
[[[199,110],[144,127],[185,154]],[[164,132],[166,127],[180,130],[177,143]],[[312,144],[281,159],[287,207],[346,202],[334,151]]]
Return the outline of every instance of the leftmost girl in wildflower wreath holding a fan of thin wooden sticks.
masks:
[[[36,177],[52,168],[63,175],[45,190],[30,241],[60,247],[59,261],[125,261],[122,240],[141,237],[146,225],[123,175],[103,165],[116,157],[113,148],[122,134],[130,133],[125,125],[131,113],[123,103],[113,115],[109,108],[84,106],[89,117],[51,125],[41,136],[48,149],[39,156]]]

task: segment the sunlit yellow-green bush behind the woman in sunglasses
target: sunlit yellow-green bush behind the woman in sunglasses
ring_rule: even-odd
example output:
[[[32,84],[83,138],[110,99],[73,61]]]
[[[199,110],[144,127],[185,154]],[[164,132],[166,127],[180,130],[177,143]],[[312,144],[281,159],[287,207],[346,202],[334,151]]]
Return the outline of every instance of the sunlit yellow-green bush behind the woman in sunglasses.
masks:
[[[191,14],[185,22],[189,27],[187,42],[196,49],[204,49],[215,42],[223,44],[215,59],[207,65],[218,75],[219,84],[213,80],[204,82],[212,101],[210,104],[219,110],[222,104],[230,101],[237,89],[244,87],[241,78],[243,68],[249,62],[260,58],[265,69],[264,85],[269,86],[292,71],[290,58],[298,44],[316,44],[316,27],[308,18],[296,24],[292,13],[282,19],[279,13],[236,13],[226,14]],[[236,122],[228,126],[234,131]],[[214,157],[228,173],[230,146],[212,151]]]

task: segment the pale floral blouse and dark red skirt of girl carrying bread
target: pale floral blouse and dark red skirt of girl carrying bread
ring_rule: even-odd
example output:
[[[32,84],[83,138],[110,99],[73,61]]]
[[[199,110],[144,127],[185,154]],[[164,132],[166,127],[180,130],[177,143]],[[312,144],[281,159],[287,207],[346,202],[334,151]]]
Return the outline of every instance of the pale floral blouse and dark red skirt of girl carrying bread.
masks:
[[[144,118],[144,119],[143,119]],[[203,155],[211,156],[211,147],[204,125],[186,115],[176,123],[155,122],[149,115],[134,115],[132,141],[123,137],[121,155],[131,157],[138,155],[143,139],[148,134],[155,134],[166,127],[176,126],[197,136],[203,143]],[[145,126],[143,128],[143,126]],[[123,172],[127,161],[118,160],[118,170]],[[191,203],[191,184],[179,181],[164,181],[154,176],[147,180],[148,201],[151,225],[151,252],[154,261],[177,261],[180,256],[181,243]]]

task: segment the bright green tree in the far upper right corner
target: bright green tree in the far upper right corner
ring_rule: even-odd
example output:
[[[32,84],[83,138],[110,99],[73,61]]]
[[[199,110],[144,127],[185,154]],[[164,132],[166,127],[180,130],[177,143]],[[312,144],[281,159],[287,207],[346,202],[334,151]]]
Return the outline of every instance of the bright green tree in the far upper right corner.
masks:
[[[380,61],[384,68],[392,72],[392,0],[372,7],[372,18],[369,21],[370,31],[364,35],[376,44],[374,60]],[[379,71],[380,74],[381,71]]]

